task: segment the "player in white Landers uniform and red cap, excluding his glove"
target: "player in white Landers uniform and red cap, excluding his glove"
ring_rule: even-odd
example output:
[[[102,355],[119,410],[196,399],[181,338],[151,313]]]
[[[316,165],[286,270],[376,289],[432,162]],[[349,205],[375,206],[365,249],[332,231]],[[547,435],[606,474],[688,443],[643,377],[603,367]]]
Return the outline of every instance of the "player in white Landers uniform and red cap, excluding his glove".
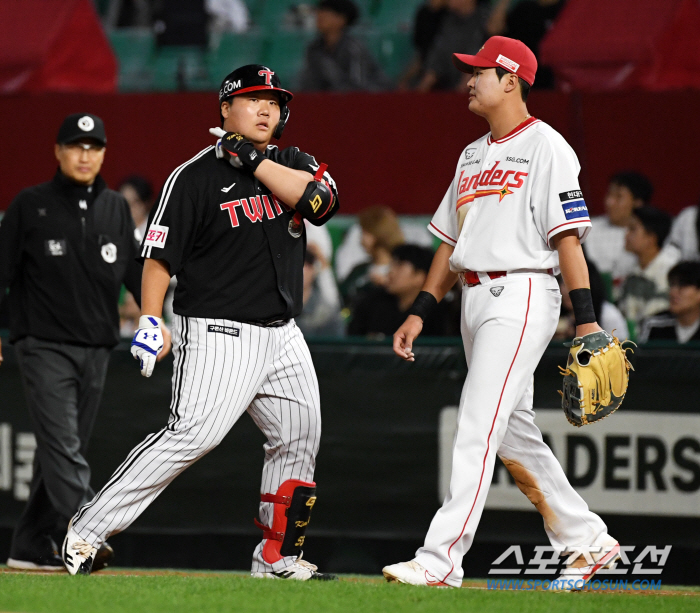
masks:
[[[581,241],[591,223],[580,166],[564,138],[527,112],[537,61],[522,42],[490,38],[474,56],[454,54],[473,73],[469,110],[491,131],[466,147],[430,231],[442,240],[423,291],[394,335],[413,361],[423,319],[457,277],[463,283],[462,338],[468,374],[460,400],[450,489],[425,544],[409,562],[384,568],[389,581],[458,587],[498,455],[542,514],[552,546],[573,552],[553,589],[581,589],[614,564],[619,545],[569,484],[535,425],[533,373],[551,340],[561,270],[576,336],[595,322]]]

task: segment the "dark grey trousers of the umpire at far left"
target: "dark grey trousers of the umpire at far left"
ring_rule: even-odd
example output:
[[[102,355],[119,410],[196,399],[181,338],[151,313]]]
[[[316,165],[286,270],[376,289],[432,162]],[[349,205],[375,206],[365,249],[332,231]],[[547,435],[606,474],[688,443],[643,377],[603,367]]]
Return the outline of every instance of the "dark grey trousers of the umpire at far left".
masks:
[[[26,337],[15,343],[36,455],[29,500],[12,538],[10,557],[47,553],[51,535],[94,492],[85,460],[102,398],[110,350]]]

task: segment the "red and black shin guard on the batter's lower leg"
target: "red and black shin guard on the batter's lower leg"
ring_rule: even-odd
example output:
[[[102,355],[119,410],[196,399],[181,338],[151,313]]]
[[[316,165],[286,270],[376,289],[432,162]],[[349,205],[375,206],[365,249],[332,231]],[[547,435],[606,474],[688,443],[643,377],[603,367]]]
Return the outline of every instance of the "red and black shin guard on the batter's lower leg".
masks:
[[[274,505],[271,528],[253,520],[263,531],[263,559],[274,564],[286,556],[299,557],[311,509],[316,503],[316,484],[288,479],[279,486],[276,494],[261,494],[260,500]]]

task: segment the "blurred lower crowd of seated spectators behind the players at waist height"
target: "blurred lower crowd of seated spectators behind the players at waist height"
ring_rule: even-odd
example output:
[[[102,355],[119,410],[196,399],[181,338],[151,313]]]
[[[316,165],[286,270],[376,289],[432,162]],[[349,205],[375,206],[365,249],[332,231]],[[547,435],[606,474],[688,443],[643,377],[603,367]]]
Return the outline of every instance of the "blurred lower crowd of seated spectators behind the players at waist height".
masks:
[[[139,176],[119,191],[131,207],[137,239],[153,204],[153,188]],[[673,219],[652,205],[653,186],[633,171],[615,173],[605,214],[593,217],[586,241],[596,317],[621,339],[644,343],[700,341],[700,215],[698,206]],[[329,224],[334,227],[333,221]],[[304,312],[308,336],[391,337],[425,281],[434,238],[423,219],[398,216],[386,206],[362,210],[336,233],[307,224]],[[337,241],[337,239],[336,239]],[[168,294],[166,321],[172,314]],[[425,336],[458,336],[459,282],[426,321]],[[556,339],[574,334],[573,309],[560,279],[562,313]],[[130,338],[139,310],[128,292],[121,302],[122,335]]]

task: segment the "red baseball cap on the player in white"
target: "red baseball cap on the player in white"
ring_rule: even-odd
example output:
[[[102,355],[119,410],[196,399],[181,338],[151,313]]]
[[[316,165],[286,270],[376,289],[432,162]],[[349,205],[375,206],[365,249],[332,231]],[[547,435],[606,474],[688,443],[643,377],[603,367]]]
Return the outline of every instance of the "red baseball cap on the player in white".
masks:
[[[476,55],[452,54],[452,63],[462,72],[474,72],[474,68],[505,68],[530,85],[535,82],[537,59],[530,48],[519,40],[505,36],[492,36]]]

